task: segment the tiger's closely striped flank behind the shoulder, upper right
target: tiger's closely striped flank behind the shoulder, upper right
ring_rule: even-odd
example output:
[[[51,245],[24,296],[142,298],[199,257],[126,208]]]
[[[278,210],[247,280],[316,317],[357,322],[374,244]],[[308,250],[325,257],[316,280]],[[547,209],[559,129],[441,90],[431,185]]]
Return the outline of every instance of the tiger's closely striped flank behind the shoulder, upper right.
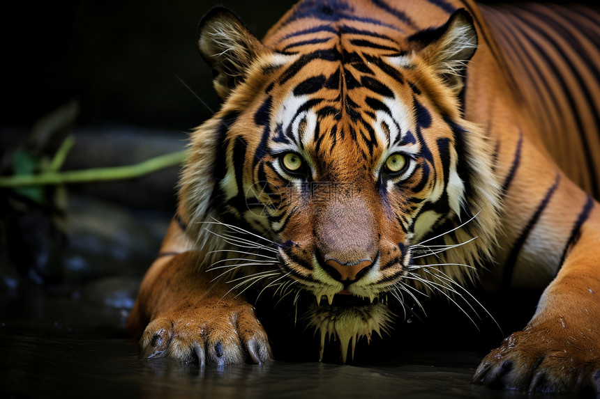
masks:
[[[480,8],[534,131],[569,178],[600,198],[599,10],[537,3]]]

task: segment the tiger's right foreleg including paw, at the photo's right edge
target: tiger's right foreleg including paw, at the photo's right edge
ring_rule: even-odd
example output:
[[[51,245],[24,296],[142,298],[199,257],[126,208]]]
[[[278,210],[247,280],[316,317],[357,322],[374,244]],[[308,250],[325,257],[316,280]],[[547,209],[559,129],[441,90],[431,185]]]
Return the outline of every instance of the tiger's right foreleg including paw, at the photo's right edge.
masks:
[[[600,393],[600,229],[583,226],[523,331],[481,361],[473,382],[504,389]]]

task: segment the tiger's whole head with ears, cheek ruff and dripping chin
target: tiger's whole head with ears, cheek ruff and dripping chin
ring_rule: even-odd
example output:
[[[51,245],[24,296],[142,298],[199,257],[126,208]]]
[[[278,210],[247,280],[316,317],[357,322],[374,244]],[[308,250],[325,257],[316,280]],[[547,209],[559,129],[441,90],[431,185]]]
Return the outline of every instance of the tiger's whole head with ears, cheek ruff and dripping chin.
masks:
[[[345,361],[351,340],[385,327],[387,300],[472,278],[493,248],[500,185],[461,114],[477,48],[465,10],[410,34],[294,13],[264,44],[225,8],[202,20],[223,106],[191,136],[181,213],[207,267],[236,259],[237,292],[313,295],[306,315]]]

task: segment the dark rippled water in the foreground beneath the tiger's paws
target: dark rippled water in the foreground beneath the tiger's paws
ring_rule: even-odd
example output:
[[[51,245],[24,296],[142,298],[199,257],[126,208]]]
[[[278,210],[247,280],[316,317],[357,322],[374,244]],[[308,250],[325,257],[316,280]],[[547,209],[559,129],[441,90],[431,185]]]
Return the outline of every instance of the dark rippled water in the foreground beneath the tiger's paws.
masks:
[[[128,339],[0,327],[0,392],[27,397],[129,398],[521,398],[469,384],[480,355],[414,354],[369,366],[275,361],[206,366],[137,359]],[[31,333],[30,333],[31,334]],[[439,366],[450,365],[450,366]],[[4,396],[6,397],[6,396]],[[563,395],[553,398],[569,398]]]

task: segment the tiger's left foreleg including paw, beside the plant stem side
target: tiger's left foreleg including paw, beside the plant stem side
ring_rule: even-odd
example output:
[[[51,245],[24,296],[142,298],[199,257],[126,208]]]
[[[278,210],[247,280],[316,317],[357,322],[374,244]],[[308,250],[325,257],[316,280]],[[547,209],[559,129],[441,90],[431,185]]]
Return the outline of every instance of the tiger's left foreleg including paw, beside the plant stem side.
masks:
[[[199,264],[193,251],[158,258],[144,277],[127,323],[134,335],[141,333],[140,356],[197,359],[201,366],[271,359],[253,306],[227,294],[223,281],[211,281],[218,274]]]

